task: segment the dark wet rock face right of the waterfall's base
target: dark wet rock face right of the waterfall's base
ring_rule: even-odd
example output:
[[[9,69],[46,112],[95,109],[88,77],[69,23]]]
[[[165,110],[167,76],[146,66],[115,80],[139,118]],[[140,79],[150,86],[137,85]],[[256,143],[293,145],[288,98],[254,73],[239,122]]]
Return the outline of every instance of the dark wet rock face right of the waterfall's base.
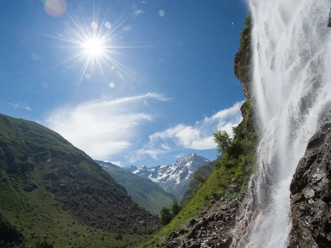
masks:
[[[324,124],[309,140],[291,190],[294,247],[331,247],[331,123]]]

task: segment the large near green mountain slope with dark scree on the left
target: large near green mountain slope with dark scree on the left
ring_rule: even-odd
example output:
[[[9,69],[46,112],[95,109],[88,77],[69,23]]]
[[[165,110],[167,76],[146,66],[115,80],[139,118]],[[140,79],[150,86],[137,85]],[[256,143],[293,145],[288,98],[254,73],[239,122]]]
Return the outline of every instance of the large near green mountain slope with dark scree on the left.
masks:
[[[160,227],[83,151],[46,127],[2,114],[0,199],[0,214],[28,246],[46,239],[58,247],[134,247]]]

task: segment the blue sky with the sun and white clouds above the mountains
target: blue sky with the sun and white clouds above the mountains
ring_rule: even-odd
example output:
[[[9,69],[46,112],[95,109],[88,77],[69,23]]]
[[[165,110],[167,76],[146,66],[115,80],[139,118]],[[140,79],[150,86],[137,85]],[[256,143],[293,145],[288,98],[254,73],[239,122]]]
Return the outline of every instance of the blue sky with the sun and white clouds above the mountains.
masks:
[[[213,160],[213,132],[241,121],[233,60],[244,0],[22,0],[0,10],[0,113],[37,121],[94,159]]]

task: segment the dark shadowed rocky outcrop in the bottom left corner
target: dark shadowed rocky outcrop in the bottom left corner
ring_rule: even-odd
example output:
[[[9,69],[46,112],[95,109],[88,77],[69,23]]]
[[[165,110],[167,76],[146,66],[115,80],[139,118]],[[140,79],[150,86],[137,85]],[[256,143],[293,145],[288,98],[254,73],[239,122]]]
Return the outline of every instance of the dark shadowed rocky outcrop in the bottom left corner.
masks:
[[[2,214],[0,214],[0,247],[13,242],[23,242],[23,234],[18,231],[15,226],[12,226]]]

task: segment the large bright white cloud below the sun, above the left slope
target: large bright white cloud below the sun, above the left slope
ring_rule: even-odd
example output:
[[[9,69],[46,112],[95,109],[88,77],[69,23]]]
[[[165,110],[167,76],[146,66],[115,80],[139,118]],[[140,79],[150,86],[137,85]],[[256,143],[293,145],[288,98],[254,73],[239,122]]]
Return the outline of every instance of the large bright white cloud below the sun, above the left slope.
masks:
[[[167,101],[162,95],[146,95],[80,103],[50,114],[45,125],[74,146],[98,160],[110,159],[133,145],[139,126],[153,115],[138,111],[142,98]]]

